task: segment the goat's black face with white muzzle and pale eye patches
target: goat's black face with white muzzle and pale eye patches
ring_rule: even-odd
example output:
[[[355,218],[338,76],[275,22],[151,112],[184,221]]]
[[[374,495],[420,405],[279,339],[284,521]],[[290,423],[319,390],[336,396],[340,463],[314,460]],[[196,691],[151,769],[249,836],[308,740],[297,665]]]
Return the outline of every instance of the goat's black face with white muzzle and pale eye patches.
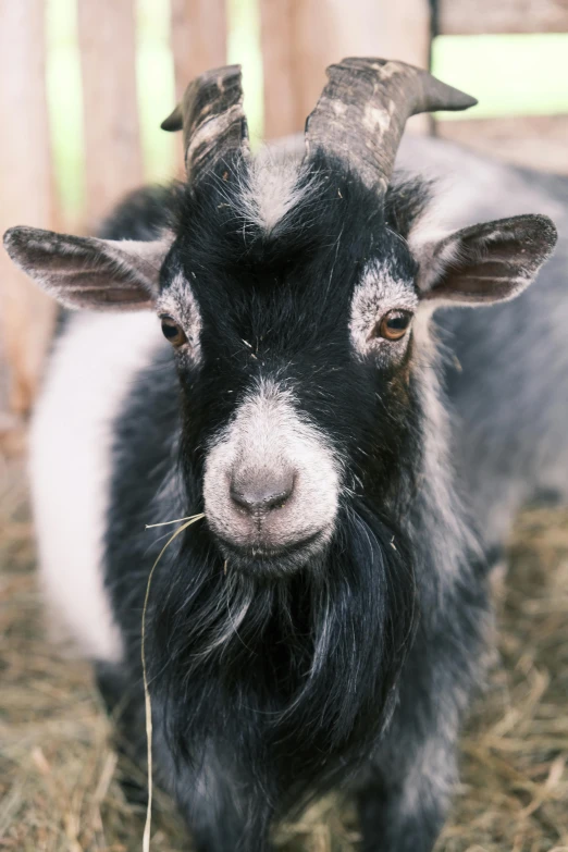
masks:
[[[355,495],[396,493],[416,417],[417,266],[338,164],[297,176],[268,232],[246,212],[262,192],[245,173],[188,195],[157,308],[208,524],[232,566],[281,572],[317,561]]]

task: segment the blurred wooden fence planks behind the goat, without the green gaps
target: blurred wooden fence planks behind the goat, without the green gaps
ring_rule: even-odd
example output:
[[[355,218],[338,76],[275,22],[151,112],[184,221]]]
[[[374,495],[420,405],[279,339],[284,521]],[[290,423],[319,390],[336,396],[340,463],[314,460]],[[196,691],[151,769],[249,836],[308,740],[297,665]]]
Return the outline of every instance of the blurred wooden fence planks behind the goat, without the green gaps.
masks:
[[[176,95],[226,61],[225,0],[170,3]],[[136,99],[136,0],[76,0],[84,104],[85,221],[91,226],[143,182]],[[324,67],[342,55],[391,55],[428,66],[433,20],[440,33],[568,32],[568,0],[258,0],[264,135],[300,131]],[[13,224],[58,227],[46,99],[45,0],[0,0],[0,232]],[[163,104],[164,115],[171,103]],[[422,129],[428,123],[422,119]],[[29,410],[54,319],[52,302],[0,252],[0,347],[9,385],[2,411]],[[9,390],[7,390],[9,388]]]

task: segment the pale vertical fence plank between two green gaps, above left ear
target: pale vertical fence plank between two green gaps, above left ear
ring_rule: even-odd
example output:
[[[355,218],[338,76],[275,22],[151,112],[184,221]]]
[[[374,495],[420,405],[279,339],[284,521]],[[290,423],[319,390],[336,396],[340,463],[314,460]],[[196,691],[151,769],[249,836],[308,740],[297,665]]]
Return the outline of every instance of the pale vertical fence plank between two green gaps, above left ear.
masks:
[[[134,0],[78,0],[88,224],[143,182]]]

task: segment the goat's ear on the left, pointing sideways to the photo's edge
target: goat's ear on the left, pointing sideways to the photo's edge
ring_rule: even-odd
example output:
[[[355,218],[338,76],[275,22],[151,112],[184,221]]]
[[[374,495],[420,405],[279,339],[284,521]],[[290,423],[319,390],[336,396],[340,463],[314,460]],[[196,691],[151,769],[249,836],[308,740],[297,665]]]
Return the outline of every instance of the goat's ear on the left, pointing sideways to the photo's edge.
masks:
[[[16,266],[66,308],[151,308],[172,238],[156,242],[97,239],[12,227],[4,246]]]

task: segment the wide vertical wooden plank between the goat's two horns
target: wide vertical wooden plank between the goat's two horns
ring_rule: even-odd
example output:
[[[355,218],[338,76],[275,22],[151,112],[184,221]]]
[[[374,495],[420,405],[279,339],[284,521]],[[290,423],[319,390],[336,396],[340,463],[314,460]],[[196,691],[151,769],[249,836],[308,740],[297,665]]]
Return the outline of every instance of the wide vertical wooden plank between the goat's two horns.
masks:
[[[343,57],[386,57],[428,67],[428,0],[261,0],[267,137],[302,129]],[[284,42],[284,44],[282,44]],[[282,99],[282,109],[281,109]],[[416,120],[415,120],[416,122]],[[418,119],[417,126],[427,123]]]

